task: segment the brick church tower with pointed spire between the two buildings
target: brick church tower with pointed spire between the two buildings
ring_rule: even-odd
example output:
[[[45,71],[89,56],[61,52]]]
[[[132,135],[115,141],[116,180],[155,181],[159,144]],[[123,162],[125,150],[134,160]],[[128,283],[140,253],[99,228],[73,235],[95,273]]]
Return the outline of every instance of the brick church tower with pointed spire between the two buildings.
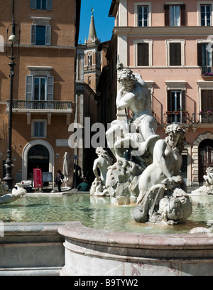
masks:
[[[99,39],[97,38],[96,29],[94,26],[94,9],[89,27],[89,37],[85,40],[86,50],[84,50],[84,82],[89,87],[97,91],[99,77],[101,75],[101,53],[98,51]]]

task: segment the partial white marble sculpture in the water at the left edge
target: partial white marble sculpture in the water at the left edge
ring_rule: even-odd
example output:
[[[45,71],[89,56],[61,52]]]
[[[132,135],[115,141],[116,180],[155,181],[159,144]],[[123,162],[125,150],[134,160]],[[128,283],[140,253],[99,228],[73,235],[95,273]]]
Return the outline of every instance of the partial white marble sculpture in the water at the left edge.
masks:
[[[22,187],[13,188],[9,190],[8,186],[1,182],[0,179],[0,204],[13,203],[18,198],[22,198],[26,194],[26,190]]]

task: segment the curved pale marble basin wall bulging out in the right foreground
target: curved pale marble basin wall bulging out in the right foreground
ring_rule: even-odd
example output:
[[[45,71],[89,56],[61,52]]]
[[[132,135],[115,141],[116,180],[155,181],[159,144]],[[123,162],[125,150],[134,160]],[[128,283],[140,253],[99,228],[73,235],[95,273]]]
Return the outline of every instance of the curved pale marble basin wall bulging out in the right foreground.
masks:
[[[109,232],[70,222],[61,276],[212,276],[213,234]]]

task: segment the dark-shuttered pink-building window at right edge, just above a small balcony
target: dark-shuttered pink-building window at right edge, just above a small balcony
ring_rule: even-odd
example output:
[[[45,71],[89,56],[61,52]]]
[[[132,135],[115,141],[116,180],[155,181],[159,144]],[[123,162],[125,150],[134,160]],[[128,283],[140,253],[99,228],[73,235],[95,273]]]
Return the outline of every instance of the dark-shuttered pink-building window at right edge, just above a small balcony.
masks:
[[[212,73],[212,50],[208,50],[209,43],[197,44],[197,65],[203,73]]]

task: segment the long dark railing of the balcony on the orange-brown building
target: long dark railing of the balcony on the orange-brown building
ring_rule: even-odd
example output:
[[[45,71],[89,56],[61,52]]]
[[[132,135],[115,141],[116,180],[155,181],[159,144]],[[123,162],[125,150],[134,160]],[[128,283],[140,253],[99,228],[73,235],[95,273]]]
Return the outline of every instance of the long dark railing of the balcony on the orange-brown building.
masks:
[[[23,111],[60,111],[72,112],[72,102],[62,101],[27,101],[27,100],[13,100],[12,108],[14,112]],[[6,102],[6,109],[9,109],[9,101]]]

